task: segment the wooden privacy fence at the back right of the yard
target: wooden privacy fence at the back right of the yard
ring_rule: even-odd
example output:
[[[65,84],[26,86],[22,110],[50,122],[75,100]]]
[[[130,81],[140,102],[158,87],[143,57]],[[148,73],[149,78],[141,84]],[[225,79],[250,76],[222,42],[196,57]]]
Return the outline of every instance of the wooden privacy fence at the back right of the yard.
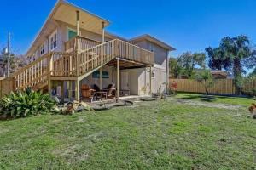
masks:
[[[170,79],[170,88],[172,88],[172,82],[177,82],[178,92],[193,92],[193,93],[205,93],[204,85],[201,82],[197,82],[191,79]],[[249,92],[253,88],[256,88],[256,80],[245,83],[243,87],[244,92]],[[218,79],[214,85],[209,88],[210,94],[236,94],[236,88],[232,79]]]

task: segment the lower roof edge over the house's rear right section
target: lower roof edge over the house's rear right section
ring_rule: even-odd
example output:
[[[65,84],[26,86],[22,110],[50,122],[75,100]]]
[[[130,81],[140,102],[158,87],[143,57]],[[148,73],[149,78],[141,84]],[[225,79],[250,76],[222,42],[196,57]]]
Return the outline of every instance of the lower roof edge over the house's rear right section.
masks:
[[[154,42],[155,44],[159,45],[162,48],[166,48],[169,51],[174,51],[176,50],[175,48],[172,48],[172,46],[166,44],[165,42],[161,42],[160,40],[156,39],[155,37],[152,37],[148,34],[144,34],[142,36],[134,37],[129,40],[130,42],[138,42],[142,40],[148,40],[149,42]]]

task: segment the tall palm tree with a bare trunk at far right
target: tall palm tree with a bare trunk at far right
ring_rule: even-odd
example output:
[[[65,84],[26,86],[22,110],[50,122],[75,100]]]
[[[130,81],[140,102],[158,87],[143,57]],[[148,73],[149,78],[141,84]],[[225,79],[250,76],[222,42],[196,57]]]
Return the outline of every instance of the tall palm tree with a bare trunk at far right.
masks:
[[[244,67],[252,66],[250,62],[244,61],[254,58],[249,38],[247,36],[224,37],[220,42],[219,48],[223,53],[224,59],[230,60],[235,77],[236,93],[240,94],[243,86],[242,73],[246,73]]]

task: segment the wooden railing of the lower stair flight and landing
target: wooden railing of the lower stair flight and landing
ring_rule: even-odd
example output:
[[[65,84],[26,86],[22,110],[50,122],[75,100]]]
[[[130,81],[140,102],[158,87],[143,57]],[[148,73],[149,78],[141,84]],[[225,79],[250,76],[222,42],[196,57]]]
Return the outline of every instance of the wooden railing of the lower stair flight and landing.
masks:
[[[49,77],[75,77],[75,54],[51,52],[36,59],[11,75],[15,80],[15,90],[32,87],[42,88],[48,84]]]

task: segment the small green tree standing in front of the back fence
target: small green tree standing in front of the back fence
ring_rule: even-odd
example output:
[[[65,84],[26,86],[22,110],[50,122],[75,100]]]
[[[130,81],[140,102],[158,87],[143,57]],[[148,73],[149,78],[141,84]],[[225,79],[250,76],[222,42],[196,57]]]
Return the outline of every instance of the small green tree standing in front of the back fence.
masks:
[[[214,79],[212,77],[212,72],[210,70],[203,70],[203,71],[198,71],[195,74],[195,81],[201,82],[203,84],[206,95],[209,94],[209,88],[211,88],[214,85]]]

